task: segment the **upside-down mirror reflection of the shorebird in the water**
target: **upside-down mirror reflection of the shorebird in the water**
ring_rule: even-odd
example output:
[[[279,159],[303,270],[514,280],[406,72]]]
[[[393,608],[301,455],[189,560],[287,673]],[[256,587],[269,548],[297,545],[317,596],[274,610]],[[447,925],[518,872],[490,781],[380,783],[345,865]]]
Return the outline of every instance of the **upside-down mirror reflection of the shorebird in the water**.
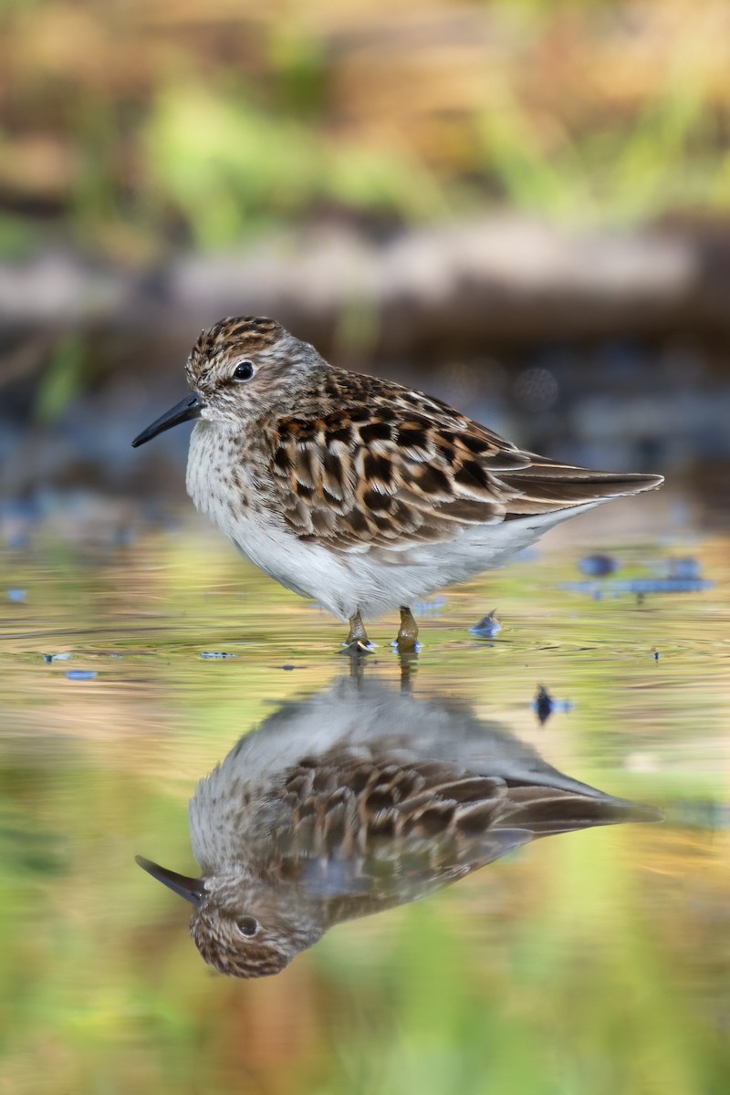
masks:
[[[201,877],[137,862],[193,904],[207,963],[263,977],[334,924],[425,897],[540,837],[659,819],[463,705],[354,677],[282,707],[201,780],[190,803]]]

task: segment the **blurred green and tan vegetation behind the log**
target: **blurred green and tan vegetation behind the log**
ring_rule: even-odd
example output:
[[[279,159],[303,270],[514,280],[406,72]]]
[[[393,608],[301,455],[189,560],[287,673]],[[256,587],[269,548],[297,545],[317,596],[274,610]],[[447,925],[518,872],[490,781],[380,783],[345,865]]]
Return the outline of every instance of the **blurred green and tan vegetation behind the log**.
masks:
[[[128,254],[328,208],[728,205],[723,0],[7,7],[0,204]]]

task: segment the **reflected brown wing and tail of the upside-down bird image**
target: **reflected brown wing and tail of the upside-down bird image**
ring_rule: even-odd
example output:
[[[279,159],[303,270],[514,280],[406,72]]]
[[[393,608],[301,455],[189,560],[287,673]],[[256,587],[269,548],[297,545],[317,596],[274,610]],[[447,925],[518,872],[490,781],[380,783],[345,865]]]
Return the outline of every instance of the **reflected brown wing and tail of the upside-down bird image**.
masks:
[[[598,792],[338,749],[303,758],[277,803],[281,821],[267,840],[279,869],[334,899],[332,921],[421,897],[541,837],[658,820],[649,807]]]

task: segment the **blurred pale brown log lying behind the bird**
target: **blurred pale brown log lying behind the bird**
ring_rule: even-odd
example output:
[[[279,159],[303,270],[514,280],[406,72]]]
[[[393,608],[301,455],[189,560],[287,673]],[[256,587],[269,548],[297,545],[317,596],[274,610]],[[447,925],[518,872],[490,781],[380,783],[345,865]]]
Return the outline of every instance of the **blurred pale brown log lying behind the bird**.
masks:
[[[280,318],[324,347],[442,351],[489,343],[730,328],[730,228],[561,232],[514,218],[374,243],[309,229],[154,276],[69,253],[0,264],[0,330],[93,325],[159,334],[227,314]]]

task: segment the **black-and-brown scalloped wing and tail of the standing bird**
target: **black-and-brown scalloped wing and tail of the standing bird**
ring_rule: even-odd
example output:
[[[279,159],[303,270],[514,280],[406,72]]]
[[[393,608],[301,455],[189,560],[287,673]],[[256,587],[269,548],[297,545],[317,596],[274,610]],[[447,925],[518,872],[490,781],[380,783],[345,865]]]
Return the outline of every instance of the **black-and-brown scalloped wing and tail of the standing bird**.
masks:
[[[450,540],[661,483],[551,462],[438,400],[356,373],[329,370],[314,406],[276,420],[271,480],[289,528],[341,551]]]

